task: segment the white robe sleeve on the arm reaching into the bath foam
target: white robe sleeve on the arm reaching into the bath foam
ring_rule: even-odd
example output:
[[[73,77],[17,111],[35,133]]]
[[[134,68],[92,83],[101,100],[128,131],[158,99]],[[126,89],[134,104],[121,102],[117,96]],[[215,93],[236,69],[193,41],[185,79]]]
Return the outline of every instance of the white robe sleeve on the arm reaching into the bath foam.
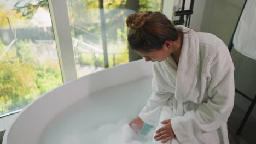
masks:
[[[139,113],[139,117],[146,123],[156,126],[158,124],[162,107],[166,101],[174,94],[166,92],[161,88],[153,77],[152,80],[152,94],[146,106],[143,107]]]

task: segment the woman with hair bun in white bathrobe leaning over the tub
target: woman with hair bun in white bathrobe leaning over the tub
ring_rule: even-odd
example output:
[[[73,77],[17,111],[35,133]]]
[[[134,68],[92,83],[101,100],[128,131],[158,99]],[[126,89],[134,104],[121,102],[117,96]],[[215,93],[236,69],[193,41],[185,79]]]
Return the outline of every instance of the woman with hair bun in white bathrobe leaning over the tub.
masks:
[[[229,143],[234,65],[223,41],[159,12],[131,14],[126,24],[131,49],[154,62],[152,95],[130,125],[156,126],[154,143]]]

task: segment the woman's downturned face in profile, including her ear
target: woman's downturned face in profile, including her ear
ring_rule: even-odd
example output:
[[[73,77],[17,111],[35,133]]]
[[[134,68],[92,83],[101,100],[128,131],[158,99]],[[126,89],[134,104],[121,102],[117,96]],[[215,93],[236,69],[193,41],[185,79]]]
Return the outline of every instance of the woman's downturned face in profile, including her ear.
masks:
[[[173,49],[172,42],[168,41],[162,46],[162,49],[155,50],[152,52],[144,52],[144,51],[136,51],[139,55],[145,58],[145,61],[152,61],[152,62],[161,62],[167,59],[171,53],[176,51]]]

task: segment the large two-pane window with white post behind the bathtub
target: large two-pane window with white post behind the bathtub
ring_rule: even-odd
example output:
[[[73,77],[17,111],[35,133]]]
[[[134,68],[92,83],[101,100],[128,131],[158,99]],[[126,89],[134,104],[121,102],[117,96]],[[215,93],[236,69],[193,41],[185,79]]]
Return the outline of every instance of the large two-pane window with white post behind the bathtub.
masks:
[[[0,0],[0,117],[75,79],[75,71],[82,77],[140,59],[127,45],[125,19],[161,6],[161,0]]]

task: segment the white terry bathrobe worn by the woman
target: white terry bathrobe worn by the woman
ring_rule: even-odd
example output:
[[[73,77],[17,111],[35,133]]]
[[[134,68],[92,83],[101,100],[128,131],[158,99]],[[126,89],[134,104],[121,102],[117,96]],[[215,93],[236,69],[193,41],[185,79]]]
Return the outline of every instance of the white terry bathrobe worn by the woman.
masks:
[[[139,117],[156,130],[171,119],[176,137],[167,143],[229,143],[235,88],[228,48],[212,34],[177,29],[184,32],[178,67],[171,56],[154,62],[153,92]]]

